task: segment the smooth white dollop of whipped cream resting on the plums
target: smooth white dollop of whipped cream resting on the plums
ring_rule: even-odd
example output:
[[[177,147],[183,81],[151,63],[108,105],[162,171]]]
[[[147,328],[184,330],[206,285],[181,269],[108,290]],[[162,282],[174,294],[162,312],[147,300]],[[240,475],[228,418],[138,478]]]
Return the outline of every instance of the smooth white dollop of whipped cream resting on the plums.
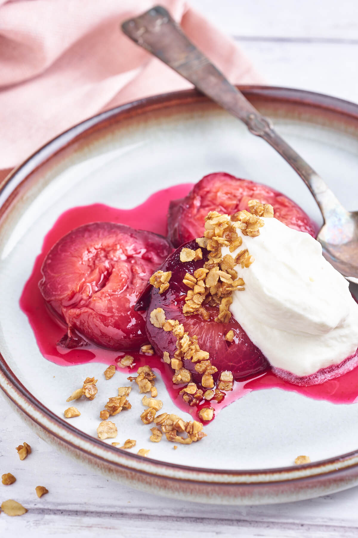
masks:
[[[303,377],[341,363],[358,347],[358,305],[347,280],[308,233],[262,220],[259,236],[237,229],[242,245],[221,249],[233,258],[248,249],[255,258],[235,266],[245,289],[232,294],[232,316],[274,369]]]

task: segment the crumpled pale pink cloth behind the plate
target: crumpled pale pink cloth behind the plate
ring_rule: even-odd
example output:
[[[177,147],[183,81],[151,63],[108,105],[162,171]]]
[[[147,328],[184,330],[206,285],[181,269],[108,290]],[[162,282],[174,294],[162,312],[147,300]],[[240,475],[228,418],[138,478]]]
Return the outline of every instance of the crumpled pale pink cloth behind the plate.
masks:
[[[184,0],[160,0],[233,83],[260,83],[235,43]],[[0,0],[0,169],[87,117],[191,87],[120,31],[150,0]]]

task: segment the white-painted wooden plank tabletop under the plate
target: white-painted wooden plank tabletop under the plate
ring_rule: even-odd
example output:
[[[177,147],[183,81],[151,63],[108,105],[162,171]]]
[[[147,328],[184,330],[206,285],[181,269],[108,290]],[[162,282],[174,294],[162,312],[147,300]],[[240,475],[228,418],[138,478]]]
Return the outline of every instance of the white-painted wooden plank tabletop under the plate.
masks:
[[[356,0],[191,0],[235,36],[268,84],[358,102]],[[0,470],[17,482],[1,487],[26,515],[0,515],[0,536],[358,536],[358,487],[284,505],[205,506],[148,495],[94,475],[36,437],[0,394]],[[20,462],[15,447],[33,453]],[[35,486],[49,494],[38,499]],[[10,489],[11,488],[11,489]],[[155,493],[155,492],[154,492]]]

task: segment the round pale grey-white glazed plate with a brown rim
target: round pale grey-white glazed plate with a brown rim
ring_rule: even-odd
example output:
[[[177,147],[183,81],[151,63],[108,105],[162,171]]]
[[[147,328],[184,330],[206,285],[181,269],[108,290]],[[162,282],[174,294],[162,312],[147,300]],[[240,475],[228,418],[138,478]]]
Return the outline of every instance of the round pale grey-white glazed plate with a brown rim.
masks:
[[[347,209],[356,209],[358,106],[296,90],[246,88],[245,93]],[[19,167],[0,194],[0,386],[42,438],[112,478],[152,492],[254,504],[357,484],[358,407],[277,389],[247,394],[206,427],[202,442],[175,451],[166,441],[149,441],[134,389],[133,409],[114,422],[115,441],[135,438],[136,448],[123,453],[99,441],[99,411],[116,387],[128,383],[128,374],[117,372],[106,381],[101,364],[48,362],[19,308],[43,238],[64,210],[96,202],[134,207],[159,189],[219,170],[281,190],[320,224],[311,195],[279,155],[195,91],[108,111],[62,134]],[[65,399],[87,376],[99,379],[98,396],[78,402],[81,416],[65,421]],[[156,386],[163,408],[176,412],[164,384],[158,380]],[[139,448],[151,449],[152,459],[137,456]],[[292,467],[299,454],[309,455],[312,464]]]

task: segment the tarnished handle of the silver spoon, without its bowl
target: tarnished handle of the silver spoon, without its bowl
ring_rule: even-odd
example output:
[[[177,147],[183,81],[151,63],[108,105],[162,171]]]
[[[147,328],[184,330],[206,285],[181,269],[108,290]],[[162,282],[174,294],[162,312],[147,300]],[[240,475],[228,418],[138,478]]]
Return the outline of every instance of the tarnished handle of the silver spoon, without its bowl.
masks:
[[[271,121],[261,116],[246,97],[188,40],[166,9],[156,6],[140,17],[127,20],[122,24],[122,30],[135,43],[192,82],[203,94],[241,119],[252,134],[274,147],[304,180],[315,196],[324,218],[332,206],[337,209],[339,202],[322,178],[276,133]]]

